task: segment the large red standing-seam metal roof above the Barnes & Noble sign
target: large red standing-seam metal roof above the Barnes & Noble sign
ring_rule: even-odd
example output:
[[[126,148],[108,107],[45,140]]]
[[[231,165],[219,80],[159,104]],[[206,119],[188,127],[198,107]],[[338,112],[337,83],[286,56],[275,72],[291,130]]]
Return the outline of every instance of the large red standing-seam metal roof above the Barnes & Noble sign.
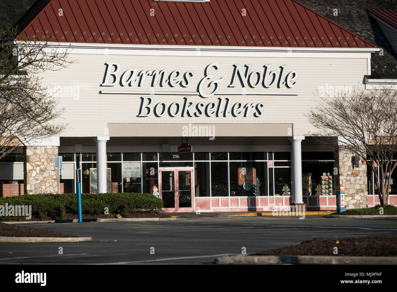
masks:
[[[69,43],[375,47],[295,0],[51,0],[19,37],[45,35]]]

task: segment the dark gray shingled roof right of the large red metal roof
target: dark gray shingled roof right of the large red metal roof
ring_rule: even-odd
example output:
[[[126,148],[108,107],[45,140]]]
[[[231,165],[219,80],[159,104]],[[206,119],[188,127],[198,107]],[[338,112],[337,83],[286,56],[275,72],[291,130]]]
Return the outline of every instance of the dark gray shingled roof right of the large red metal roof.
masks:
[[[397,54],[367,9],[397,9],[396,0],[297,0],[366,41],[384,49],[384,55],[372,53],[370,78],[397,79]],[[333,15],[334,9],[338,15]],[[385,68],[386,66],[386,68]],[[394,70],[394,71],[393,71]]]

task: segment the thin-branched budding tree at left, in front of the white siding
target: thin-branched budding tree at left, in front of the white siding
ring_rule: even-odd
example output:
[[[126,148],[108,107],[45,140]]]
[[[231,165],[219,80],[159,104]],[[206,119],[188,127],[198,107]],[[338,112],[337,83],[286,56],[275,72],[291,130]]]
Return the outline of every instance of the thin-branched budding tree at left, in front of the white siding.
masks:
[[[68,51],[58,52],[50,36],[41,41],[19,39],[17,28],[0,30],[0,159],[15,147],[45,139],[65,130],[66,124],[51,123],[63,108],[37,74],[60,70],[74,61]]]

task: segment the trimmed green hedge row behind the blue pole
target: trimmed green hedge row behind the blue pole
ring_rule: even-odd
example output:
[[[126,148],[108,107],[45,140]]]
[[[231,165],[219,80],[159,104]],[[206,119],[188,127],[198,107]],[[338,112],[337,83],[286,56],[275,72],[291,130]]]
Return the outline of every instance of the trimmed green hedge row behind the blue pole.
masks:
[[[64,219],[66,213],[77,215],[77,196],[75,193],[66,194],[35,194],[13,197],[0,197],[0,205],[31,205],[32,217],[39,220]],[[81,195],[83,214],[104,214],[105,208],[109,213],[120,213],[127,217],[129,213],[150,211],[161,212],[163,201],[150,193],[103,193]],[[17,217],[0,216],[0,221],[18,220]]]

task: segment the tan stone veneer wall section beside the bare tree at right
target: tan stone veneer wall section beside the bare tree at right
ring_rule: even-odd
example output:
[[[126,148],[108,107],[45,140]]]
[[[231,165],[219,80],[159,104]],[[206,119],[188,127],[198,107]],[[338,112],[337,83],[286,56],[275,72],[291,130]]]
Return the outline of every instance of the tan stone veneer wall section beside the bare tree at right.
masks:
[[[366,162],[362,159],[360,161],[360,166],[353,169],[351,164],[351,157],[353,154],[341,148],[339,148],[337,152],[339,158],[339,172],[336,180],[336,190],[339,191],[339,185],[341,184],[345,186],[346,209],[368,207]]]

